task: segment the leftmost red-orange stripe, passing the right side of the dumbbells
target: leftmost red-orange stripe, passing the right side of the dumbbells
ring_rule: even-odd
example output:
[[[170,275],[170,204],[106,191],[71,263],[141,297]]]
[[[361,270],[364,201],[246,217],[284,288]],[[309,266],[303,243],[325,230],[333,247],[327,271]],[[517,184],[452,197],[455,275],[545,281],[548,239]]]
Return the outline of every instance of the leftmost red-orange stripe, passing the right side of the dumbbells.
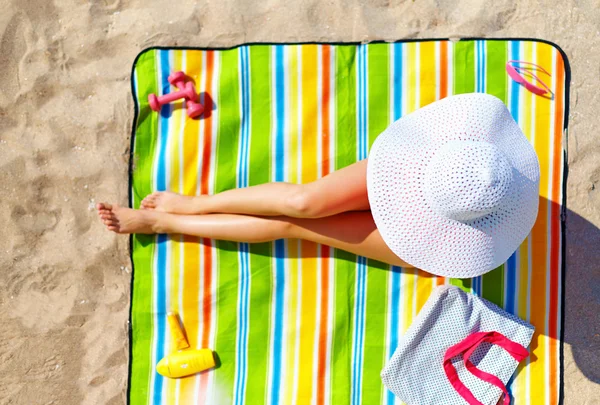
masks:
[[[210,180],[210,166],[211,166],[211,152],[212,152],[212,123],[213,116],[210,112],[213,109],[212,99],[209,96],[212,91],[213,73],[214,73],[214,51],[206,52],[206,87],[204,97],[204,111],[208,114],[203,116],[204,119],[204,139],[202,142],[202,168],[201,168],[201,183],[200,193],[208,194],[209,180]],[[208,96],[207,96],[208,95]],[[202,266],[204,291],[202,292],[202,340],[201,346],[209,347],[210,333],[211,333],[211,321],[212,321],[212,241],[209,239],[202,239],[202,254],[204,257],[204,266]],[[199,402],[206,403],[207,385],[208,385],[207,373],[201,374],[200,376],[200,393]]]

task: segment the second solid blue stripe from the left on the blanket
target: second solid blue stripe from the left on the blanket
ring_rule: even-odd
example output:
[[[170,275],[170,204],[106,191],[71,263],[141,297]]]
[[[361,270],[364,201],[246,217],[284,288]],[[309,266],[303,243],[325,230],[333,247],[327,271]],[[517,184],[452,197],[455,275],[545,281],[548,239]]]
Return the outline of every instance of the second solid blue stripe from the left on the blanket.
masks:
[[[285,81],[283,46],[275,46],[275,181],[283,181],[284,172],[284,122],[285,122]],[[279,403],[281,387],[281,361],[283,350],[283,299],[285,294],[285,242],[275,241],[275,319],[272,342],[271,403]]]

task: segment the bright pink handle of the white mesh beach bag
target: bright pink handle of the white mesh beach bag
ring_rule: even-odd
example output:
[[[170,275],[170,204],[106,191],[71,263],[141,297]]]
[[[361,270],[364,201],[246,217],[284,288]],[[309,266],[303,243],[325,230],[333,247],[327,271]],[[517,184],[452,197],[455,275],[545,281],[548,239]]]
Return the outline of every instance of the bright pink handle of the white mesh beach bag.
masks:
[[[502,390],[504,393],[504,405],[510,404],[510,396],[504,383],[495,375],[486,373],[483,370],[478,369],[470,360],[471,355],[477,350],[477,348],[483,343],[488,342],[491,344],[498,345],[506,350],[517,362],[520,362],[527,356],[529,352],[525,347],[517,342],[513,342],[501,333],[498,332],[477,332],[467,336],[462,342],[450,347],[446,350],[444,355],[444,371],[446,377],[450,381],[450,384],[454,387],[456,392],[460,394],[469,405],[484,405],[473,393],[460,381],[458,373],[452,364],[452,358],[460,354],[463,355],[463,360],[467,367],[467,370],[479,379],[488,382]]]

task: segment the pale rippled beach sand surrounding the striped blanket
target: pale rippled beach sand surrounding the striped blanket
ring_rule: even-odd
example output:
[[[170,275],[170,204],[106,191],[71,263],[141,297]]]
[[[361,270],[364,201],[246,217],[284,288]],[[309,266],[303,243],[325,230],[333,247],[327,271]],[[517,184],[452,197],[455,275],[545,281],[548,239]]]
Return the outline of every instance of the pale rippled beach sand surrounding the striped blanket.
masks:
[[[0,5],[0,404],[126,402],[128,243],[92,206],[127,202],[140,50],[449,36],[544,38],[571,61],[565,403],[600,404],[600,1]]]

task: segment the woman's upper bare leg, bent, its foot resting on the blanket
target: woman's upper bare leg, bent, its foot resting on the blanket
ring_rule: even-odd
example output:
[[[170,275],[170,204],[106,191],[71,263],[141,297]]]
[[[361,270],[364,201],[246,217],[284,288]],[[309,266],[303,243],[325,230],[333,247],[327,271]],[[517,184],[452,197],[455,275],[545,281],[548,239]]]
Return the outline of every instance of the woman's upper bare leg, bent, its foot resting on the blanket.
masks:
[[[173,214],[230,213],[295,218],[365,211],[369,209],[367,160],[308,184],[267,183],[194,197],[156,192],[142,201],[142,208]]]

